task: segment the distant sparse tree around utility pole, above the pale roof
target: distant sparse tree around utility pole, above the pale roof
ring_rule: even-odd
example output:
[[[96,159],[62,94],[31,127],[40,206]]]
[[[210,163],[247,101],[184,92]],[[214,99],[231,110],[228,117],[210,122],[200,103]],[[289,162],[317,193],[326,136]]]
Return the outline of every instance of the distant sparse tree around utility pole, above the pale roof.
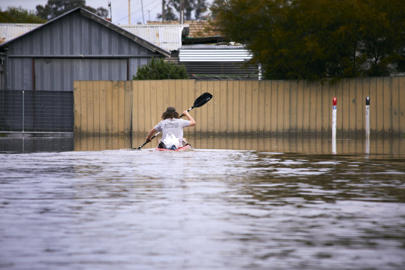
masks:
[[[202,14],[207,10],[206,0],[184,0],[184,19],[202,19]],[[175,12],[179,15],[176,15]],[[180,0],[168,0],[164,7],[164,16],[166,20],[176,21],[180,17]],[[158,19],[162,14],[157,15]]]

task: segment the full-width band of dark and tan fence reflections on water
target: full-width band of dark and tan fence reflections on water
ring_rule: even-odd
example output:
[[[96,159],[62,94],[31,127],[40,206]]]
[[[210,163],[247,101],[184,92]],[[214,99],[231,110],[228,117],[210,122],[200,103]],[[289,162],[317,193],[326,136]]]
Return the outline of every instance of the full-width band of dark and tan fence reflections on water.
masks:
[[[132,140],[131,140],[132,139]],[[377,154],[405,155],[405,139],[338,139],[311,137],[189,137],[196,149],[255,150],[304,154]],[[64,151],[102,151],[137,148],[145,142],[141,136],[89,135],[8,135],[0,137],[0,153],[34,153]],[[144,149],[153,149],[150,142]],[[334,145],[335,144],[335,145]]]

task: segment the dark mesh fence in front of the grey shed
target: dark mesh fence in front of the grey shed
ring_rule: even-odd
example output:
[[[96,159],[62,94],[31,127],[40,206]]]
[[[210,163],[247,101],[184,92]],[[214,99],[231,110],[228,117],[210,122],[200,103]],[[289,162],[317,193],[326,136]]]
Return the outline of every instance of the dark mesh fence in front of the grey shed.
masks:
[[[0,132],[73,133],[73,92],[0,90]]]

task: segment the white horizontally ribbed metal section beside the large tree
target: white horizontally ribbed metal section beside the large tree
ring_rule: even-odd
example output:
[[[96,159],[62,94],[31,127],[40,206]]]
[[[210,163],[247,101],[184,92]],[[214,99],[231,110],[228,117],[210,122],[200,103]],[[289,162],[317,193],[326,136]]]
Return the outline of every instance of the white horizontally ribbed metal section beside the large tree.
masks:
[[[242,45],[183,45],[179,50],[180,62],[244,62],[252,53]]]

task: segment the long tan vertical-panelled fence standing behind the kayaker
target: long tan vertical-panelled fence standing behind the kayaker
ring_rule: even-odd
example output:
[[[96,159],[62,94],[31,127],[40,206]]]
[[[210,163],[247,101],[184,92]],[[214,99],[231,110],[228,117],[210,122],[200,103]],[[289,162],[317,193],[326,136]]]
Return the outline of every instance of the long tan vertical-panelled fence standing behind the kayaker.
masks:
[[[404,135],[405,77],[307,81],[75,81],[75,132],[144,133],[168,106],[179,112],[203,92],[213,94],[191,115],[196,135],[321,135],[331,133],[337,97],[337,137],[361,137],[370,96],[371,135]]]

